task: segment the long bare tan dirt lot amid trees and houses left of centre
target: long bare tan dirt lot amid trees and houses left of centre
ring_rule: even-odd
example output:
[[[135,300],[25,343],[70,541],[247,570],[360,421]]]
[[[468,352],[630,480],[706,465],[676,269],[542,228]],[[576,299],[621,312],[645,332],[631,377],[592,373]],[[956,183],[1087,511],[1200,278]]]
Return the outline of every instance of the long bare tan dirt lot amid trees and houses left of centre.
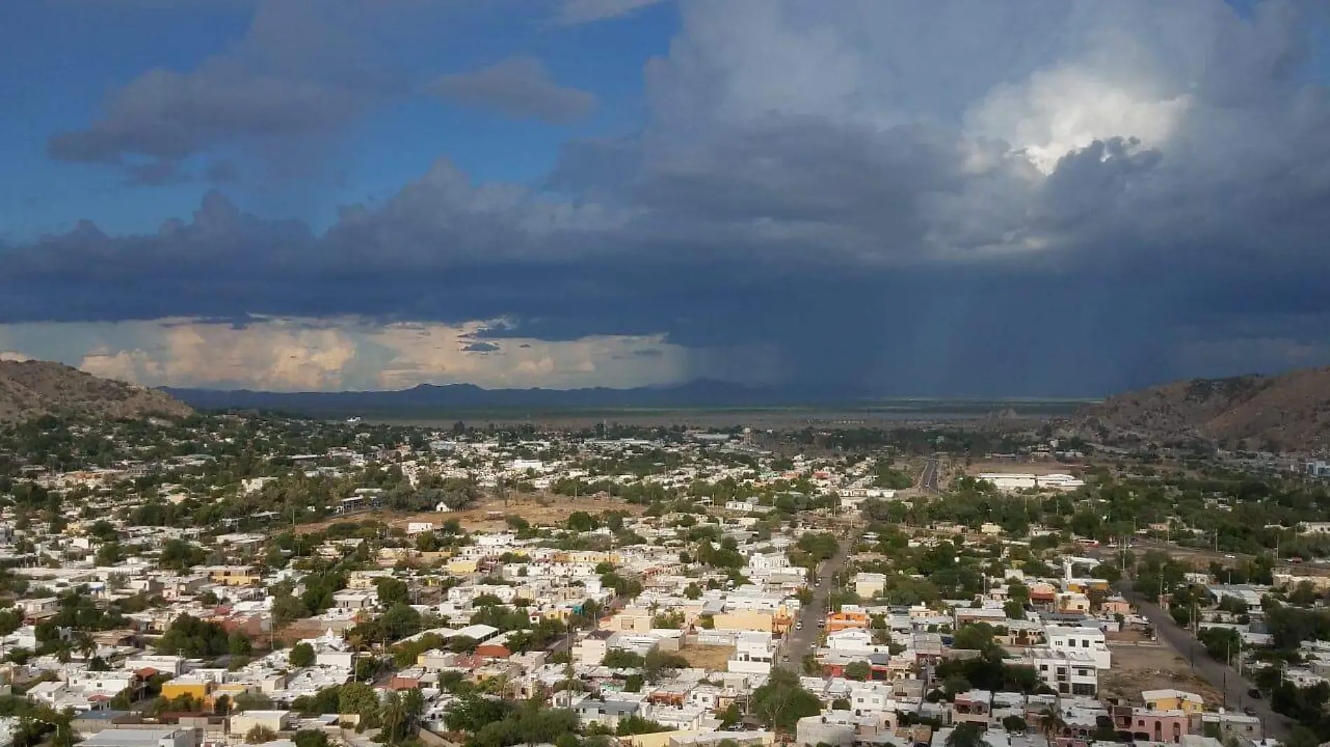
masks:
[[[485,497],[475,505],[462,510],[447,513],[436,512],[399,512],[399,510],[371,510],[346,516],[335,516],[325,521],[305,524],[299,532],[318,532],[327,529],[338,521],[383,521],[390,526],[406,528],[414,521],[431,521],[435,526],[456,518],[468,532],[499,532],[507,526],[504,517],[520,516],[533,525],[563,524],[573,512],[600,513],[605,510],[621,510],[633,516],[640,516],[645,506],[624,502],[618,498],[584,496],[571,498],[568,496],[537,494],[537,496],[509,496],[508,505],[499,498]]]

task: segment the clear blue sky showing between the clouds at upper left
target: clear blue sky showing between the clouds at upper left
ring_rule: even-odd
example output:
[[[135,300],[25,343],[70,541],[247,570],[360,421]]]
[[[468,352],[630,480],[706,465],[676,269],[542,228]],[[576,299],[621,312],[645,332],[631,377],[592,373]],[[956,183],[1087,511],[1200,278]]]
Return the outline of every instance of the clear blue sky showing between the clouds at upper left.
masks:
[[[109,90],[144,70],[190,70],[239,43],[255,3],[20,4],[0,29],[0,235],[29,239],[89,218],[110,231],[154,230],[198,205],[197,182],[126,187],[124,174],[47,156],[53,132],[98,117]],[[243,181],[227,194],[246,211],[326,226],[338,203],[390,195],[422,165],[447,156],[480,179],[539,182],[572,137],[618,136],[642,124],[642,65],[668,51],[677,15],[669,4],[640,8],[613,24],[563,25],[540,3],[440,3],[410,19],[418,28],[379,31],[383,64],[423,81],[431,73],[473,70],[512,54],[533,54],[563,85],[595,92],[597,110],[560,126],[496,118],[438,100],[400,100],[348,122],[323,145],[321,173]],[[384,148],[391,144],[391,148]],[[255,165],[262,167],[262,163]]]

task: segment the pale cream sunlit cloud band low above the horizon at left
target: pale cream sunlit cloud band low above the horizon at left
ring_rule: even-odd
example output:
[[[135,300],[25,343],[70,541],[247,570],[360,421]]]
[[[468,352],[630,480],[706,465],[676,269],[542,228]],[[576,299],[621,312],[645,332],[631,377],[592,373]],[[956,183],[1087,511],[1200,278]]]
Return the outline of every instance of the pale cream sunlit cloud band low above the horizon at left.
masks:
[[[277,318],[0,324],[0,360],[60,359],[148,385],[266,391],[577,388],[588,379],[636,387],[684,381],[705,366],[705,352],[658,336],[476,340],[493,324]]]

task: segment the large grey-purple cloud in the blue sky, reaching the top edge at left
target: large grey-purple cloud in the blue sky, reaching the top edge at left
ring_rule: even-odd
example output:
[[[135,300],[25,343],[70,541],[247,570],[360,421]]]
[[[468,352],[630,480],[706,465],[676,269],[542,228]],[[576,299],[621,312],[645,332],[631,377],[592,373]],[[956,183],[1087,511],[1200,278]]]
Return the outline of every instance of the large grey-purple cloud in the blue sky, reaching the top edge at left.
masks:
[[[132,166],[136,179],[218,145],[330,133],[399,93],[363,60],[347,27],[360,9],[342,0],[258,3],[246,36],[188,72],[152,69],[112,92],[101,118],[53,134],[52,158]]]

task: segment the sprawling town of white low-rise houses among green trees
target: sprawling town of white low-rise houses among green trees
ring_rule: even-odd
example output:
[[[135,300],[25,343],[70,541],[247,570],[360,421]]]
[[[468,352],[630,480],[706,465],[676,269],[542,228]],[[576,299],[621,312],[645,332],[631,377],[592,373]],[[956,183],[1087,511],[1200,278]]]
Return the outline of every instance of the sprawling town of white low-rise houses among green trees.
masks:
[[[0,744],[1319,744],[1318,469],[1039,427],[28,420]]]

